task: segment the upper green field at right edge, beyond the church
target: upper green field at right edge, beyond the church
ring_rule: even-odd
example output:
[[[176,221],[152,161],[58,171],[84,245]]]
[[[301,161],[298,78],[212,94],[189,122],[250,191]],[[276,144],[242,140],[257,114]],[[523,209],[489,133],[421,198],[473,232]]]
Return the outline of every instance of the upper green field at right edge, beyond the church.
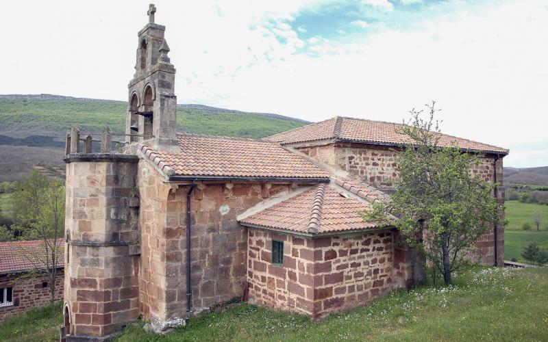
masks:
[[[536,231],[536,226],[533,222],[534,213],[540,213],[541,224],[540,229],[548,228],[548,205],[536,205],[532,203],[521,203],[516,200],[507,200],[505,218],[508,220],[506,230],[521,230],[521,226],[525,222],[529,222],[532,226],[532,231]]]

